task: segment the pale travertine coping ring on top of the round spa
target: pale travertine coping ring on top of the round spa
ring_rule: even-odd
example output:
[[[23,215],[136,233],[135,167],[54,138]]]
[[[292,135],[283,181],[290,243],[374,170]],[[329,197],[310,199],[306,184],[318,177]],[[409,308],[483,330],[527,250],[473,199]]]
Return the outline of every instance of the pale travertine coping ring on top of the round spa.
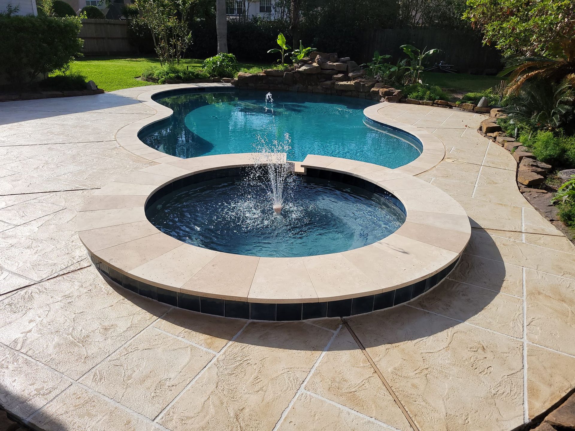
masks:
[[[119,178],[87,199],[78,215],[80,239],[96,259],[140,282],[201,297],[259,303],[335,301],[408,286],[447,268],[469,241],[465,211],[439,188],[406,170],[337,157],[310,155],[301,167],[342,172],[377,184],[404,204],[404,225],[377,243],[350,251],[254,257],[182,243],[147,220],[143,201],[133,200],[132,208],[122,205],[122,199],[149,198],[183,176],[250,166],[261,161],[258,157],[251,153],[174,157]],[[161,176],[167,179],[158,184]]]

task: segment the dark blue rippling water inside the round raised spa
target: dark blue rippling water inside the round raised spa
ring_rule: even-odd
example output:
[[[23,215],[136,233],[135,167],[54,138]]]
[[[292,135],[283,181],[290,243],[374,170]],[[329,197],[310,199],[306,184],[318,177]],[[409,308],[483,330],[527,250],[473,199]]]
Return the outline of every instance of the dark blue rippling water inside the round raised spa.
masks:
[[[205,172],[158,190],[145,212],[159,230],[185,243],[261,257],[364,247],[405,221],[396,197],[354,176],[313,169],[292,174],[281,214],[272,209],[268,186],[254,168]]]

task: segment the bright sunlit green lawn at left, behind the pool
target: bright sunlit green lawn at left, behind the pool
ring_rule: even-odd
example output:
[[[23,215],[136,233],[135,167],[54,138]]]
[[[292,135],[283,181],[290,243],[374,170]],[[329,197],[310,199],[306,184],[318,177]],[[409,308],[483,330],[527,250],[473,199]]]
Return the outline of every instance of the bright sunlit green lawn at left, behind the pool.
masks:
[[[199,68],[203,59],[185,59],[180,64]],[[160,66],[160,61],[154,57],[127,59],[121,57],[85,57],[70,65],[70,72],[86,76],[93,80],[99,88],[105,91],[121,90],[121,88],[154,85],[151,82],[137,80],[141,73],[150,66]],[[240,63],[241,68],[266,67],[269,65]]]

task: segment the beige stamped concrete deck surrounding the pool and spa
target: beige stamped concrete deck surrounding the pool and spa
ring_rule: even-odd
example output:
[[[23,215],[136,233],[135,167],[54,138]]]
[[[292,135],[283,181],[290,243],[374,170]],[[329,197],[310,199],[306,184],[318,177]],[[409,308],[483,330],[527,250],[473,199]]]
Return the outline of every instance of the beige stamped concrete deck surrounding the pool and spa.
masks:
[[[0,104],[7,410],[46,430],[511,430],[575,386],[575,249],[462,111],[378,111],[443,141],[419,177],[473,226],[450,280],[348,320],[395,398],[338,319],[224,320],[110,287],[74,219],[93,190],[155,164],[114,139],[154,114],[148,90]]]

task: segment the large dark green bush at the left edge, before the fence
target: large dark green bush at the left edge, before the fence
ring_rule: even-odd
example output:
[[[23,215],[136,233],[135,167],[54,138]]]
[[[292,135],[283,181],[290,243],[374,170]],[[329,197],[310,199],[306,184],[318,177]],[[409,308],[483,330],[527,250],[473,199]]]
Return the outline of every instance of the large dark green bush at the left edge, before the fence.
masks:
[[[81,55],[78,17],[0,16],[0,76],[22,85],[64,69]]]

